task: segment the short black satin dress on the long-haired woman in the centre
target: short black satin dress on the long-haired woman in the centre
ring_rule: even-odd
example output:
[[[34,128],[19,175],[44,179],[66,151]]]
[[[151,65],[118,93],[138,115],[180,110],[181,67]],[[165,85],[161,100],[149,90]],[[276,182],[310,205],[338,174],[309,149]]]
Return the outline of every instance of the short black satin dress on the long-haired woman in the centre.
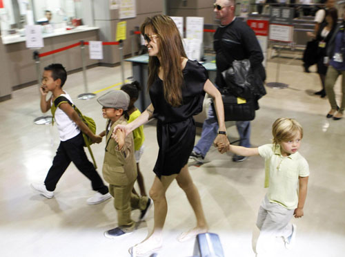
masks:
[[[159,77],[150,87],[150,99],[157,118],[157,141],[159,153],[153,171],[161,175],[178,174],[187,164],[195,143],[193,115],[202,111],[204,84],[208,79],[206,68],[188,59],[184,70],[182,104],[173,107],[164,98],[163,82]]]

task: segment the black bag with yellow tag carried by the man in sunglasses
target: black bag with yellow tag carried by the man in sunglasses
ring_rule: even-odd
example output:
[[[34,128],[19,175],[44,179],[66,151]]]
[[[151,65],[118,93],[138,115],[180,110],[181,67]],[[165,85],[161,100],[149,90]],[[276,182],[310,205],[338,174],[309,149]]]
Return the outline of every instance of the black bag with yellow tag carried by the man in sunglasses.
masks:
[[[252,98],[244,99],[235,97],[234,95],[221,95],[224,105],[224,121],[244,122],[254,120],[255,118],[255,100]],[[213,113],[215,117],[215,106],[212,103]]]

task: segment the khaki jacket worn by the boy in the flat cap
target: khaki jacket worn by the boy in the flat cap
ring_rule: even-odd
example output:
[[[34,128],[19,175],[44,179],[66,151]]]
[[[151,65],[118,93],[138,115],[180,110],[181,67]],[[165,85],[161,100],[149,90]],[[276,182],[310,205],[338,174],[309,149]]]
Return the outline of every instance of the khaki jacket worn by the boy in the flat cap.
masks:
[[[108,122],[107,122],[108,124]],[[137,179],[137,164],[134,157],[134,142],[132,133],[126,137],[121,151],[117,142],[111,138],[112,131],[117,124],[127,124],[124,116],[114,122],[110,132],[106,135],[106,153],[103,161],[103,178],[109,184],[126,186]]]

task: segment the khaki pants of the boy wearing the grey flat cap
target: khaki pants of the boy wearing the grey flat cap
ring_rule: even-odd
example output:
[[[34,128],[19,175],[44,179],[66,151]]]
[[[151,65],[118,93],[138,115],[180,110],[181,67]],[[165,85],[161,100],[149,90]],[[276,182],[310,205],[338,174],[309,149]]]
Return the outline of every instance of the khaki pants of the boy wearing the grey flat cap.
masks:
[[[109,185],[109,193],[114,198],[114,207],[117,211],[118,227],[132,231],[135,222],[130,218],[131,209],[144,210],[148,203],[147,196],[138,196],[132,193],[134,182],[126,186]]]

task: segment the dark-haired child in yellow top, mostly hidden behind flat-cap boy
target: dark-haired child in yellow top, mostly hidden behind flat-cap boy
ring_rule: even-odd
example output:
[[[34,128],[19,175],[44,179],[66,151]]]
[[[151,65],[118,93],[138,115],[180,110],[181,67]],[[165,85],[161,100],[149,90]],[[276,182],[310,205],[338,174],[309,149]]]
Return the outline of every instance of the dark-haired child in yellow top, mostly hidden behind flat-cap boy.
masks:
[[[134,106],[134,103],[139,98],[139,91],[141,90],[141,87],[139,85],[139,82],[135,81],[130,84],[125,84],[124,86],[121,86],[121,90],[125,91],[130,96],[130,104],[128,106],[128,111],[127,111],[129,115],[128,123],[130,123],[141,115],[141,112],[139,111],[139,109]],[[134,149],[135,149],[135,152],[134,152],[135,162],[137,162],[137,171],[138,171],[137,182],[139,185],[140,195],[147,196],[146,190],[145,190],[145,184],[144,184],[144,177],[141,174],[140,169],[139,169],[139,160],[141,158],[141,155],[144,153],[144,140],[145,140],[144,126],[141,125],[138,128],[135,128],[135,130],[132,131],[132,133],[133,133]],[[133,191],[134,193],[136,193],[134,188],[133,188]]]

